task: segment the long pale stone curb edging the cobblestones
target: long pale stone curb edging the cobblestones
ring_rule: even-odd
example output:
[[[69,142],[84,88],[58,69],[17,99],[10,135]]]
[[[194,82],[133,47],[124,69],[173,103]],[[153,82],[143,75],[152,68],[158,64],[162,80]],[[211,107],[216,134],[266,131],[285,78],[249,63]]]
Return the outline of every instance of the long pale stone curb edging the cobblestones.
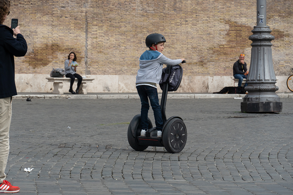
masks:
[[[293,98],[293,93],[277,93],[280,98]],[[159,98],[162,94],[159,94]],[[244,98],[245,94],[175,94],[169,93],[171,99],[198,99],[198,98]],[[44,95],[17,95],[15,99],[139,99],[138,94],[104,94],[104,95],[71,95],[71,94],[44,94]]]

